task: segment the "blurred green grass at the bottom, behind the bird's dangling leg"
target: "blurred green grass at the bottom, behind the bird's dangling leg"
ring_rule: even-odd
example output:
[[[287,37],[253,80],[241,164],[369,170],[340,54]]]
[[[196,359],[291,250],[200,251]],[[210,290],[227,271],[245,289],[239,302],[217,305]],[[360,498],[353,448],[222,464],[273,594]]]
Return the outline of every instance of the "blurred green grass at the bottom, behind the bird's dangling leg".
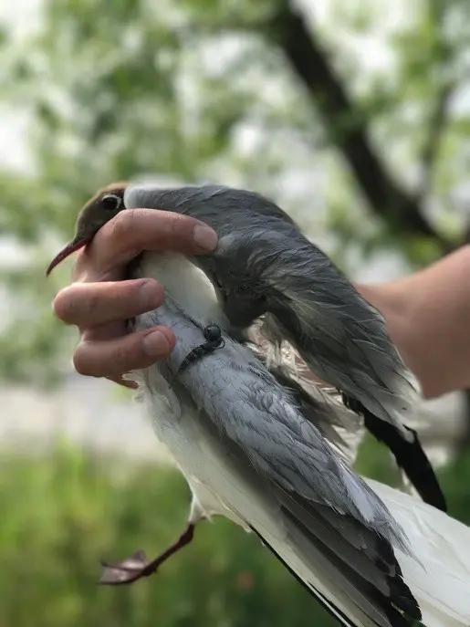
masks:
[[[365,455],[363,465],[381,475],[377,462]],[[470,523],[470,457],[442,480],[451,513]],[[221,518],[201,523],[193,543],[148,580],[97,585],[99,559],[156,555],[177,538],[189,498],[183,477],[164,466],[97,459],[64,444],[50,458],[3,456],[2,627],[336,624],[255,536]]]

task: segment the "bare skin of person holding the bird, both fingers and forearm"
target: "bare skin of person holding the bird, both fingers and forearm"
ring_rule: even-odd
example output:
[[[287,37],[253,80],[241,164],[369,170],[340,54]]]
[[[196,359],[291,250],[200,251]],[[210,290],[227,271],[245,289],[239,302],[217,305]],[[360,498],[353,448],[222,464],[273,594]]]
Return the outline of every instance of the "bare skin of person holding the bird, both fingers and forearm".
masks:
[[[78,253],[73,283],[53,303],[59,319],[78,327],[76,370],[132,386],[123,373],[167,357],[176,341],[171,329],[125,329],[126,319],[162,304],[163,287],[154,279],[120,280],[124,267],[143,250],[197,255],[215,246],[208,226],[154,209],[121,212],[104,225]],[[409,277],[356,287],[381,311],[424,397],[470,388],[470,246]]]

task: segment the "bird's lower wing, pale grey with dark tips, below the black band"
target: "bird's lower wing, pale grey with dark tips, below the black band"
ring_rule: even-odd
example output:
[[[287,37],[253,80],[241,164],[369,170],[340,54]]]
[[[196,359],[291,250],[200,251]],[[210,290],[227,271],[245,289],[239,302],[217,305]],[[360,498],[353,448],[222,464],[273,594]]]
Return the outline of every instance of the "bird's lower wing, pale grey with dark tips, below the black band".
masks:
[[[231,443],[225,443],[227,451],[241,467],[252,468],[253,483],[268,486],[287,544],[307,572],[333,581],[371,624],[404,626],[419,619],[393,549],[410,552],[402,529],[379,497],[333,455],[287,392],[271,381],[266,386],[261,368],[259,385],[250,382],[234,412],[217,413],[218,430]],[[303,577],[309,585],[308,574]]]

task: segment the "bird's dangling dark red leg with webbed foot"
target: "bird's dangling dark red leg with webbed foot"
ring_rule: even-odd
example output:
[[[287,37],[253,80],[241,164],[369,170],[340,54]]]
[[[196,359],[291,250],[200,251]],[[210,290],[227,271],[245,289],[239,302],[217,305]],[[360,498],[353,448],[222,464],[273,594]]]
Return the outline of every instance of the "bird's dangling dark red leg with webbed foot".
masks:
[[[106,586],[121,586],[134,581],[140,580],[142,577],[150,577],[156,570],[162,566],[162,563],[171,558],[174,553],[183,549],[190,544],[194,537],[194,523],[188,524],[188,527],[176,542],[166,549],[157,558],[149,561],[142,550],[136,551],[131,558],[123,559],[114,564],[101,562],[103,570],[99,583]]]

